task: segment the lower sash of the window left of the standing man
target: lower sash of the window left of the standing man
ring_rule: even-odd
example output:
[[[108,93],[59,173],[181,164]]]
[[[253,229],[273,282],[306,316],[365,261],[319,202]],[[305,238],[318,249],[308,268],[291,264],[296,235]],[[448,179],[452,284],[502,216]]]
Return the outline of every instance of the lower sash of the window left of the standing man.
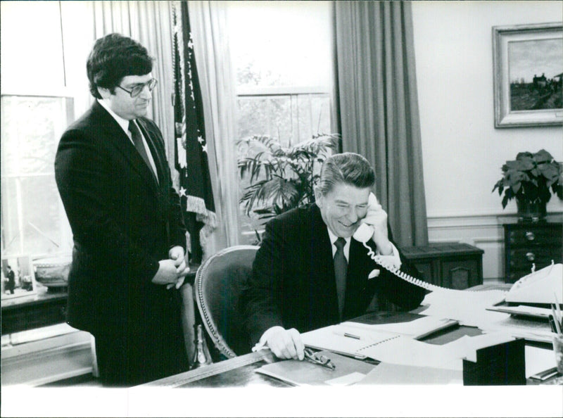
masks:
[[[68,254],[70,227],[53,163],[72,99],[3,95],[1,117],[2,254]]]

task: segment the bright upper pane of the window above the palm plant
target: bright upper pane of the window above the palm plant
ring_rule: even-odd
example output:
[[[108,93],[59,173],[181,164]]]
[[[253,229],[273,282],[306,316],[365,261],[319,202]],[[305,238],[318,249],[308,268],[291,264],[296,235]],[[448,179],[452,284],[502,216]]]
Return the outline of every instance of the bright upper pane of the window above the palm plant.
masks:
[[[239,86],[330,86],[331,2],[229,2]]]

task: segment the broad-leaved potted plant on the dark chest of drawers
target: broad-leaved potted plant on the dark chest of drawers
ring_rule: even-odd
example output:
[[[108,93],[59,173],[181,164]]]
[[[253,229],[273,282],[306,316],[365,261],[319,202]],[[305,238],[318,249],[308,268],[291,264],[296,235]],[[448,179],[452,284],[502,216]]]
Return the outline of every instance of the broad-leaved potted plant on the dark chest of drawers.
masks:
[[[545,217],[545,205],[551,195],[563,200],[562,167],[548,151],[518,153],[516,160],[502,165],[502,178],[495,183],[502,196],[502,208],[516,199],[521,220],[539,220]]]

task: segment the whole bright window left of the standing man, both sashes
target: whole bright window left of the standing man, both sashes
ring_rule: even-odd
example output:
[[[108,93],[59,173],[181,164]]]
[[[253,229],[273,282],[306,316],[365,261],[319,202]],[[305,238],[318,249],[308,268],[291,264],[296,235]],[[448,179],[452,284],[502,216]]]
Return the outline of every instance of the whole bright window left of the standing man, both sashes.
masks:
[[[60,4],[0,6],[2,255],[68,255],[72,233],[53,166],[73,114],[65,90]]]

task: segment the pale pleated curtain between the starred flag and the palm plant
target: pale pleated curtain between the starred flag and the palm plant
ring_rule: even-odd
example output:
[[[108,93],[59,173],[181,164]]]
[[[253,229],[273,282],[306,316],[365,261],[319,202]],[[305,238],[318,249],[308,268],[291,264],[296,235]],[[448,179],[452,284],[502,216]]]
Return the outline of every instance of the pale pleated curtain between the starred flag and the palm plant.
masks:
[[[236,170],[236,94],[227,34],[227,2],[189,1],[198,63],[217,228],[202,239],[203,260],[240,242]]]

